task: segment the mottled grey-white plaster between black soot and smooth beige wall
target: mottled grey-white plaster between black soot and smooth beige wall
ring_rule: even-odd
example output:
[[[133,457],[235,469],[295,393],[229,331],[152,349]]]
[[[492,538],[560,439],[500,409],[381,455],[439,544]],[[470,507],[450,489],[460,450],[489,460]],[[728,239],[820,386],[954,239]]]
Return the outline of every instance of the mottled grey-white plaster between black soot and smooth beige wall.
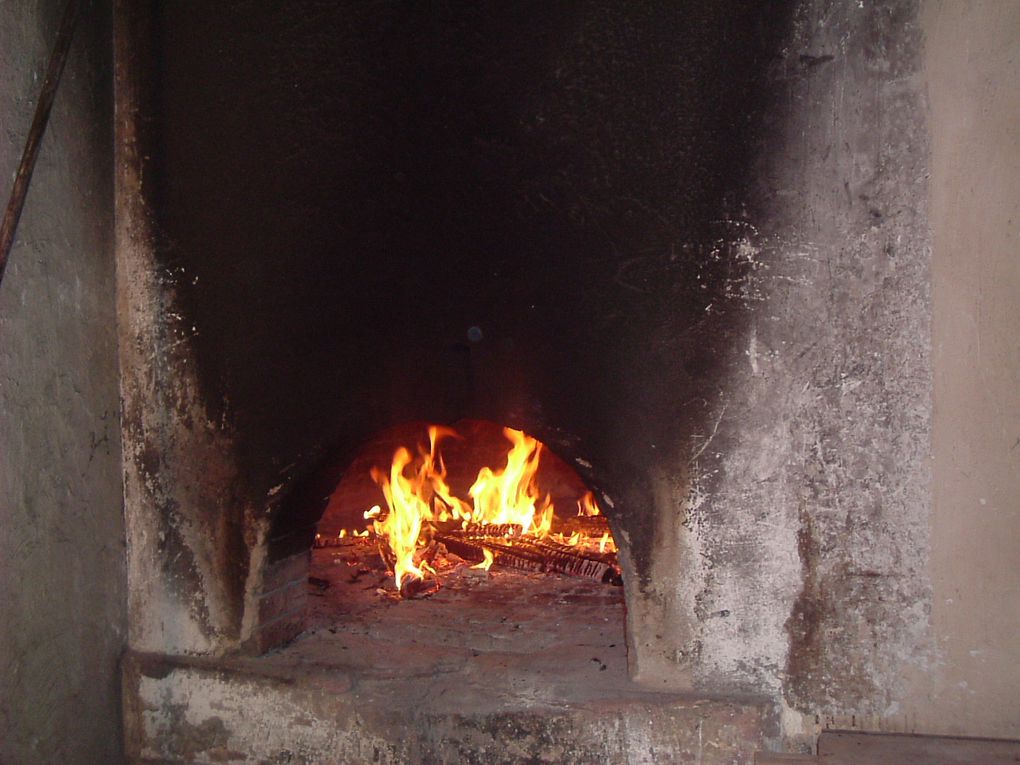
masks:
[[[794,738],[815,715],[896,716],[905,668],[926,666],[930,299],[917,10],[798,5],[770,71],[767,140],[748,168],[758,180],[748,199],[754,267],[741,285],[750,320],[705,404],[713,417],[694,459],[674,472],[690,477],[663,477],[663,530],[673,518],[683,525],[659,538],[657,580],[690,640],[646,649],[642,636],[660,630],[633,630],[655,675],[672,661],[699,687],[774,694]]]

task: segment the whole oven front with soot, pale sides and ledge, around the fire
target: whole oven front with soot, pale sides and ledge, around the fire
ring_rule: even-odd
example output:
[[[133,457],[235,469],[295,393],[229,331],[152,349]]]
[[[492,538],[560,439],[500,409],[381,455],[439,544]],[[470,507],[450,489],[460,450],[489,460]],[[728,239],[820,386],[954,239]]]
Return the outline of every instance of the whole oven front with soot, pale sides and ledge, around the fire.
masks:
[[[887,717],[930,649],[916,12],[119,3],[132,756],[751,762]],[[329,497],[461,420],[576,471],[622,589],[333,640]]]

